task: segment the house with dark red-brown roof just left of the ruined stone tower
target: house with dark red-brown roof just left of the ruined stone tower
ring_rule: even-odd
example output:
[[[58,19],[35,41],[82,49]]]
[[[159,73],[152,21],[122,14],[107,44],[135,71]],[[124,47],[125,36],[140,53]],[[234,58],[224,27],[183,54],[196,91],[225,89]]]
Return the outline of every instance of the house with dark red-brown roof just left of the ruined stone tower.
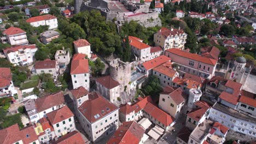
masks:
[[[102,76],[96,79],[97,92],[114,103],[120,97],[120,83],[114,80],[110,75]]]

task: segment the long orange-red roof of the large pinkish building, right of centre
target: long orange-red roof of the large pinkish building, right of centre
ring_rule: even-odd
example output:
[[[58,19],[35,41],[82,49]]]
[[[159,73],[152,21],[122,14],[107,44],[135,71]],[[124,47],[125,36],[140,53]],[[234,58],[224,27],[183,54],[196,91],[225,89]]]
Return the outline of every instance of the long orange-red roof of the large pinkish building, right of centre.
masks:
[[[216,65],[217,61],[215,59],[202,57],[200,55],[196,55],[195,53],[185,52],[179,49],[168,49],[167,52],[173,53],[174,55],[181,56],[188,59],[193,59],[197,62],[202,62],[210,65]]]

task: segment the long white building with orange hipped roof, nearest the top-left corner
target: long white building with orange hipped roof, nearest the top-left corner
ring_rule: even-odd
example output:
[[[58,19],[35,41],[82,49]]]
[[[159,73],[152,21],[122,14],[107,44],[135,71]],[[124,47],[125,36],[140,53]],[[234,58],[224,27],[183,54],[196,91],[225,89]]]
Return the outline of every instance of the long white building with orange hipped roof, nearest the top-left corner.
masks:
[[[53,15],[40,15],[27,19],[26,22],[30,23],[33,27],[49,26],[48,29],[55,29],[58,27],[57,17]]]

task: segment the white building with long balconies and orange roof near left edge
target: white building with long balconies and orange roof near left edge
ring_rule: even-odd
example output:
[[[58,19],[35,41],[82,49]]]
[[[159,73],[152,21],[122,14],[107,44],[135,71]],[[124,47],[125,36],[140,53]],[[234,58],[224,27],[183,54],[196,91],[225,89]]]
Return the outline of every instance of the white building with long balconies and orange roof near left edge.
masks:
[[[26,32],[18,27],[9,27],[3,31],[8,43],[10,45],[27,45],[27,35]]]

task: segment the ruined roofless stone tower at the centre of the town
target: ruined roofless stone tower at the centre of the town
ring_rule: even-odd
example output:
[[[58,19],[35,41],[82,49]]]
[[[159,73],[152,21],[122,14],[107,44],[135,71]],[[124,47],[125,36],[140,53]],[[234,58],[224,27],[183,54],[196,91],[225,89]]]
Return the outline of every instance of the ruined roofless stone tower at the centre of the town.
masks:
[[[123,62],[119,58],[111,60],[109,73],[113,79],[120,83],[120,92],[130,93],[131,64],[129,62]]]

